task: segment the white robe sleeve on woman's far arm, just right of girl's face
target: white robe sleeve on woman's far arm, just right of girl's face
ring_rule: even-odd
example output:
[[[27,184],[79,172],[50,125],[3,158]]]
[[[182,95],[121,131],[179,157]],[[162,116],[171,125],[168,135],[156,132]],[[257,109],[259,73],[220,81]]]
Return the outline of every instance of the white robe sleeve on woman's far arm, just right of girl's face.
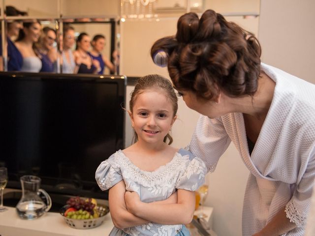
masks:
[[[221,118],[211,119],[201,115],[193,132],[189,151],[203,160],[207,171],[213,172],[230,143]]]

